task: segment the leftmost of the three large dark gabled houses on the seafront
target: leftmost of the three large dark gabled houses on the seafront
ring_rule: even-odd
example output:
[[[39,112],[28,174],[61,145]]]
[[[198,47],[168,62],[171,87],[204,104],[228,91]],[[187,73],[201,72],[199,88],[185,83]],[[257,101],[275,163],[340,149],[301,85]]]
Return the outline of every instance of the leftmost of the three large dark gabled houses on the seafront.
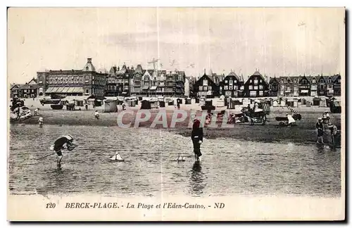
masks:
[[[213,98],[220,95],[219,90],[219,86],[213,82],[209,75],[206,75],[205,70],[204,75],[194,82],[194,94],[196,94],[196,96]]]

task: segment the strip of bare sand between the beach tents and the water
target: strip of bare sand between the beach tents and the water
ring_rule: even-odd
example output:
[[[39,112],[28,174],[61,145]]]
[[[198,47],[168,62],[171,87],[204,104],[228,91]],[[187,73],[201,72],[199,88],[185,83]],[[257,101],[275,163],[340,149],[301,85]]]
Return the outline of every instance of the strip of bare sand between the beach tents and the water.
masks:
[[[134,127],[134,120],[136,118],[137,110],[132,110],[133,115],[127,114],[122,118],[123,124],[129,124]],[[181,134],[184,137],[189,137],[191,134],[190,129],[190,111],[187,111],[187,118],[182,122],[177,122],[175,127],[170,127],[172,115],[174,110],[164,110],[167,117],[168,126],[165,128],[163,125],[153,126],[153,120],[161,110],[149,110],[151,118],[146,122],[140,122],[139,127],[165,129],[168,132]],[[268,122],[266,125],[256,124],[254,126],[249,123],[230,125],[227,127],[206,127],[204,128],[204,137],[208,139],[216,138],[231,138],[253,141],[291,141],[298,144],[313,144],[316,140],[315,123],[319,117],[322,117],[322,112],[301,112],[302,120],[297,120],[295,127],[281,127],[279,122],[275,120],[277,116],[284,116],[287,110],[276,110],[268,115]],[[68,111],[68,110],[40,110],[40,114],[44,118],[45,125],[58,125],[58,126],[101,126],[101,127],[118,127],[119,113],[99,113],[100,118],[94,118],[92,110],[82,111]],[[200,112],[198,115],[201,115]],[[142,115],[143,116],[143,115]],[[180,117],[180,115],[179,115]],[[30,119],[16,122],[13,125],[37,125],[38,116]],[[341,129],[341,114],[330,113],[330,118],[338,129]],[[161,120],[161,119],[159,119]],[[220,125],[220,122],[218,123]],[[329,139],[329,131],[326,130],[325,141]]]

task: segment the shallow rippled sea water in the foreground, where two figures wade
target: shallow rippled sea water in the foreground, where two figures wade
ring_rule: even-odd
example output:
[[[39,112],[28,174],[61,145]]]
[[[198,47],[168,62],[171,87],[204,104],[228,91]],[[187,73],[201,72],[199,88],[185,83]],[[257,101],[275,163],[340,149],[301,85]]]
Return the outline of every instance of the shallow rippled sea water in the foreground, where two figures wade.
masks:
[[[189,137],[163,129],[11,125],[11,194],[97,193],[108,196],[339,196],[340,149],[235,139],[204,139],[194,163]],[[79,146],[40,158],[63,134]],[[119,151],[125,163],[108,160]],[[185,162],[174,161],[178,154]]]

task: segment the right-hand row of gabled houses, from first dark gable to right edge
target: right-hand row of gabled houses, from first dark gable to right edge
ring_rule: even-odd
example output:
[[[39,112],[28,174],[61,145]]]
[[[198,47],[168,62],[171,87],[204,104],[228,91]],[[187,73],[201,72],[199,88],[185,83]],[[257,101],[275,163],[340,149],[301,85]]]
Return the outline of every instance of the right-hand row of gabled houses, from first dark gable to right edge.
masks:
[[[215,77],[217,79],[215,79]],[[341,75],[264,77],[256,71],[245,81],[234,72],[204,75],[192,84],[194,96],[341,96]]]

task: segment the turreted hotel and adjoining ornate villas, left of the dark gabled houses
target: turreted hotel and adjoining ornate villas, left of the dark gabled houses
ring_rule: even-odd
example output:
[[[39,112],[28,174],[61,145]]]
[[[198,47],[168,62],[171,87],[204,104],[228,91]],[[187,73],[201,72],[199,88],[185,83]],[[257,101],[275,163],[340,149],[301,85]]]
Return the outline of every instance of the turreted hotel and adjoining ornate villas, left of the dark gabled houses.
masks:
[[[82,70],[46,70],[36,79],[39,96],[182,96],[185,80],[183,71],[143,70],[142,65],[96,70],[92,58]]]

